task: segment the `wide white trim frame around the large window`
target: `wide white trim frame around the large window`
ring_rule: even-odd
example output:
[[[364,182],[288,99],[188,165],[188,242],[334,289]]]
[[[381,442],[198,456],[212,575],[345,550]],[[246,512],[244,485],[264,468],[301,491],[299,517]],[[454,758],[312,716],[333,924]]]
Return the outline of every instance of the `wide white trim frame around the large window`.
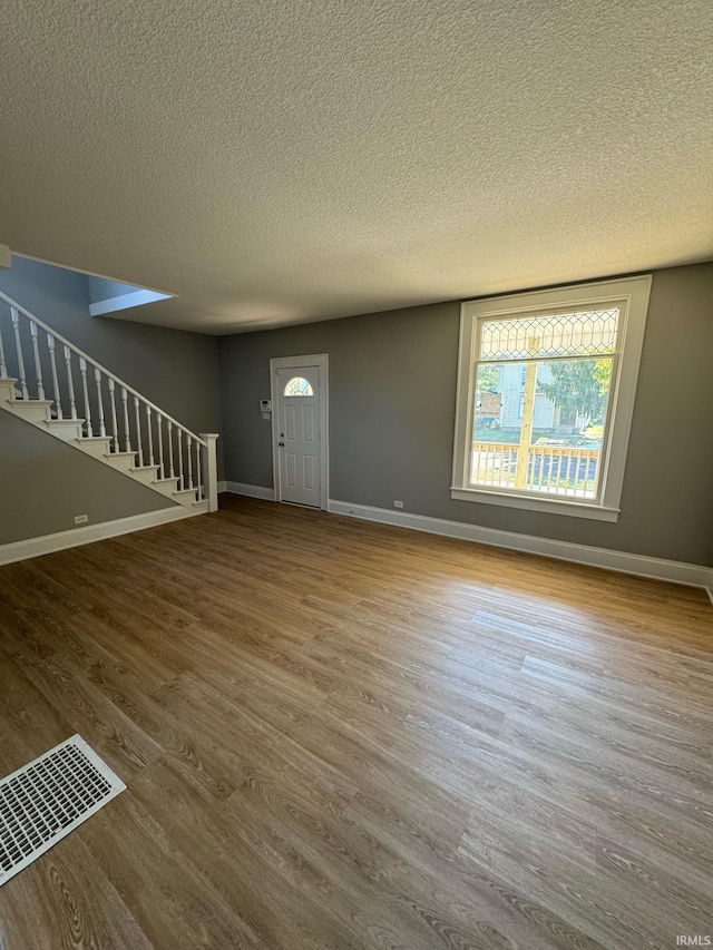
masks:
[[[451,498],[506,508],[526,508],[530,511],[546,511],[553,515],[569,515],[575,518],[592,518],[598,521],[618,519],[651,284],[652,275],[647,274],[641,277],[624,277],[572,287],[467,301],[461,305]],[[525,494],[501,488],[470,488],[467,474],[470,453],[467,447],[472,440],[472,400],[469,394],[475,382],[477,321],[485,317],[515,316],[550,307],[560,310],[568,306],[622,302],[624,306],[619,317],[619,371],[609,396],[608,411],[613,421],[608,427],[607,444],[603,445],[604,469],[600,474],[599,499],[584,501],[563,497],[541,497],[534,493]]]

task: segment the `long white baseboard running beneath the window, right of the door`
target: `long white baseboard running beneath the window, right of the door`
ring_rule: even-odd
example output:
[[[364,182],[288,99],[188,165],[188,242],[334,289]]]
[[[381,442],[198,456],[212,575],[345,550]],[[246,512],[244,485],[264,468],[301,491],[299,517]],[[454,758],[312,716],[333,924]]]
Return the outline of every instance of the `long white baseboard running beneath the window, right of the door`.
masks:
[[[390,511],[388,508],[373,508],[369,505],[351,505],[349,501],[330,500],[328,511],[334,515],[363,518],[368,521],[379,521],[382,525],[410,528],[414,531],[427,531],[430,535],[476,541],[479,545],[491,545],[496,548],[509,548],[514,551],[541,555],[556,560],[602,567],[623,574],[634,574],[637,577],[648,577],[653,580],[668,580],[672,584],[683,584],[688,587],[703,587],[707,590],[711,603],[713,603],[713,568],[705,567],[705,565],[683,564],[682,561],[651,558],[626,551],[613,551],[609,548],[593,548],[588,545],[573,545],[570,541],[555,541],[534,535],[499,531],[495,528],[481,528],[478,525],[468,525],[463,521],[447,521],[442,518]]]

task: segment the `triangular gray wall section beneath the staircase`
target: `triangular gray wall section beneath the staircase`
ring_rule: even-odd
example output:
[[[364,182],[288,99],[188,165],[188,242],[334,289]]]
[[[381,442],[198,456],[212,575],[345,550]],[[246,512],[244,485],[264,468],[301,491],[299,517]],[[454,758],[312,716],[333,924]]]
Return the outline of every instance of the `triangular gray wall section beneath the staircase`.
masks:
[[[0,545],[174,508],[98,460],[0,410]],[[11,447],[11,451],[6,451]]]

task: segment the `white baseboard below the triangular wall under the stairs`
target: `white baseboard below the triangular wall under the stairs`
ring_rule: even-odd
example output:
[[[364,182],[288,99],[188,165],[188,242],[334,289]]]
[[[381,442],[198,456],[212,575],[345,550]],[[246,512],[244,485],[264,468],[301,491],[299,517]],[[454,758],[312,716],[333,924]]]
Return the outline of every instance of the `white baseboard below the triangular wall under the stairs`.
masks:
[[[145,515],[130,515],[128,518],[117,518],[115,521],[88,525],[86,528],[72,528],[69,531],[58,531],[56,535],[12,541],[9,545],[0,545],[0,566],[37,558],[40,555],[51,555],[67,548],[91,545],[94,541],[104,541],[107,538],[117,538],[119,535],[129,535],[131,531],[143,531],[145,528],[155,528],[158,525],[167,525],[169,521],[179,521],[182,518],[195,518],[196,515],[202,513],[202,511],[184,508],[183,505],[176,505],[173,508],[147,511]]]

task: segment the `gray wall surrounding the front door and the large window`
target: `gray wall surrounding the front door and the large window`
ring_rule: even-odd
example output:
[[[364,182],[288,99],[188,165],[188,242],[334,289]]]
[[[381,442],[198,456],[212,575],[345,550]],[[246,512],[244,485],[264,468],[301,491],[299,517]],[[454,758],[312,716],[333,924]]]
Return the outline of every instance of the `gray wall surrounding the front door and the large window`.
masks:
[[[225,477],[272,486],[268,360],[330,356],[330,497],[713,565],[713,264],[654,275],[618,522],[453,501],[458,303],[219,340]]]

